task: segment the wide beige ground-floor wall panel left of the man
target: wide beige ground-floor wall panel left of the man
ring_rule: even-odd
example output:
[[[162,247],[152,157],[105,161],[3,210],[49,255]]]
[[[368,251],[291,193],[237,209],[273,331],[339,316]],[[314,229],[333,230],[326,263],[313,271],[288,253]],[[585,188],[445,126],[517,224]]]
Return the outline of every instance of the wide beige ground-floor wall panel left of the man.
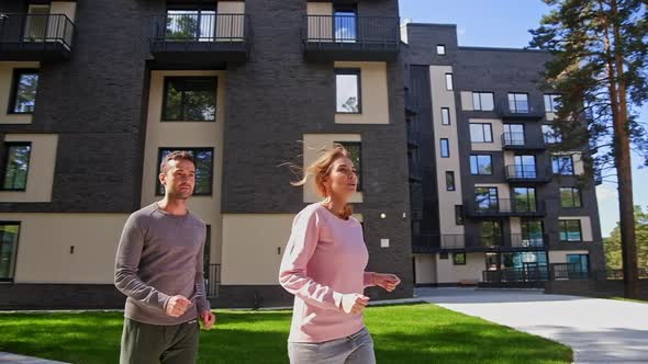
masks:
[[[2,220],[21,221],[14,282],[112,284],[114,258],[127,217],[0,214]]]

